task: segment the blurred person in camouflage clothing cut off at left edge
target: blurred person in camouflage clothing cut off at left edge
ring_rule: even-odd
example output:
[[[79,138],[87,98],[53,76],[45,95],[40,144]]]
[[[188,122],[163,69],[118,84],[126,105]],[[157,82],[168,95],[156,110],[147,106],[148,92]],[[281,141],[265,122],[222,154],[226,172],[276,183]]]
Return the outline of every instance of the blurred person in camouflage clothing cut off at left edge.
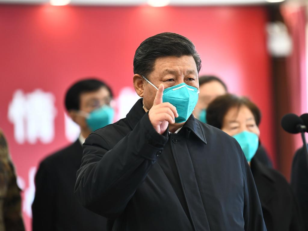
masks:
[[[20,189],[6,139],[0,130],[0,230],[24,231]]]

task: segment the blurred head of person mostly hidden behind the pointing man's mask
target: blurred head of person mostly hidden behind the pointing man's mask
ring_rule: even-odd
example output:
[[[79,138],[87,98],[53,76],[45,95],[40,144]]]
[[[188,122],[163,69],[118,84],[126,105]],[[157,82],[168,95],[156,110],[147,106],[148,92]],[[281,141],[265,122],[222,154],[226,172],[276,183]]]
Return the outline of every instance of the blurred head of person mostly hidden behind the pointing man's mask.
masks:
[[[225,95],[228,92],[226,84],[214,75],[199,76],[199,99],[193,110],[195,118],[206,123],[206,108],[217,96]]]

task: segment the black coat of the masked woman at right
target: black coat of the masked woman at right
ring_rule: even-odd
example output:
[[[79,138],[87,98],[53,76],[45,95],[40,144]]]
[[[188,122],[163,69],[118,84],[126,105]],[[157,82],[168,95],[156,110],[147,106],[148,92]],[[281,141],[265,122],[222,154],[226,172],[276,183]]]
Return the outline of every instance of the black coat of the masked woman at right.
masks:
[[[302,217],[286,179],[278,171],[258,160],[252,159],[250,167],[267,231],[302,231]]]

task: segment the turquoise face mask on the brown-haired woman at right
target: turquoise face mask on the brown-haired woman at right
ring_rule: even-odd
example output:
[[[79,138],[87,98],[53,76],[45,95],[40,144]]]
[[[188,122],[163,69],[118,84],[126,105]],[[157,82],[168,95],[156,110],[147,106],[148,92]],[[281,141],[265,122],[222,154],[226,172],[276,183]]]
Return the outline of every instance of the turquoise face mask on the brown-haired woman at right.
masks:
[[[246,160],[250,162],[259,147],[259,137],[256,134],[248,131],[238,133],[233,137],[240,144],[245,154]]]

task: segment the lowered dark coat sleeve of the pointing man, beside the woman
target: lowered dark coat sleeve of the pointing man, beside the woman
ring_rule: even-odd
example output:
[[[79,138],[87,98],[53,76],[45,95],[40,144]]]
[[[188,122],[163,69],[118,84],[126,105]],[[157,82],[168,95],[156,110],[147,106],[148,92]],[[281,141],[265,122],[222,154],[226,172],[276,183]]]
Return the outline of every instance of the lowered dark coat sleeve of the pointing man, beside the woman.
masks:
[[[242,153],[241,162],[244,179],[244,230],[266,231],[256,184],[254,183],[253,175],[244,153],[242,150],[240,152]]]

